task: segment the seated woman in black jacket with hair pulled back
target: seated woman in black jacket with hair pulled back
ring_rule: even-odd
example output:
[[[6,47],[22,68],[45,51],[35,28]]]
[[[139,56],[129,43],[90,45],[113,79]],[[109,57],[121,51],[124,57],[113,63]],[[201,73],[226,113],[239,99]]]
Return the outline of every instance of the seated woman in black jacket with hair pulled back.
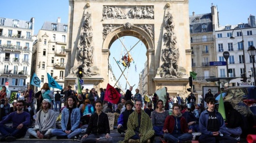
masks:
[[[102,112],[102,102],[95,102],[96,112],[91,115],[86,134],[83,136],[81,142],[85,143],[111,143],[112,138],[110,134],[108,115]]]

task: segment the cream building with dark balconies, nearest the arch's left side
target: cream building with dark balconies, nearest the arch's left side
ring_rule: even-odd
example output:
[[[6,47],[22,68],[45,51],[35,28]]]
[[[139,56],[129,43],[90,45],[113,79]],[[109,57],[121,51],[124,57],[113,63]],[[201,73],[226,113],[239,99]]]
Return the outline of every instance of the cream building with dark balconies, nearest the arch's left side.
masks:
[[[47,73],[62,87],[65,80],[67,24],[46,21],[33,44],[31,75],[34,73],[41,79],[41,87],[48,82]],[[39,90],[35,88],[35,91]]]

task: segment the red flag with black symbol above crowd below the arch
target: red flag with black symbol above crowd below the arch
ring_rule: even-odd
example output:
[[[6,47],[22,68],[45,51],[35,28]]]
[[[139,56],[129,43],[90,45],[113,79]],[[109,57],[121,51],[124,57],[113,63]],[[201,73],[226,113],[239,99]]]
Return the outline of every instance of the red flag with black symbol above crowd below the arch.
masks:
[[[106,86],[104,100],[111,102],[113,104],[118,104],[120,96],[121,96],[120,93],[108,83],[108,85]]]

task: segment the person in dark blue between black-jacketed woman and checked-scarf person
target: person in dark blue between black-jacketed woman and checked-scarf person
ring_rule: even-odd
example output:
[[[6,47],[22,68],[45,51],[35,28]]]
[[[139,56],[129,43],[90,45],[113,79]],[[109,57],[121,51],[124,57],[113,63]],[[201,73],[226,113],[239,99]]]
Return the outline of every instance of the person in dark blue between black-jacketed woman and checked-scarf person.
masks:
[[[131,113],[133,113],[133,102],[128,100],[125,102],[125,111],[122,112],[118,118],[118,133],[124,136],[127,130],[127,122]]]

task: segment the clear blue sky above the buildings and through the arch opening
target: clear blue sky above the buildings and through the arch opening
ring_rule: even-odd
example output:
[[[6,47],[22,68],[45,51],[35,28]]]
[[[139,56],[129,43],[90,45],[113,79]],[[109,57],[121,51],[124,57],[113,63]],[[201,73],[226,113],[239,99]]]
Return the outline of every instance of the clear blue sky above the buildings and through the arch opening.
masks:
[[[219,24],[221,25],[247,23],[247,18],[250,16],[250,14],[256,16],[255,0],[189,0],[189,15],[192,15],[193,11],[195,14],[211,13],[212,3],[213,5],[218,6]],[[0,5],[0,17],[28,21],[31,17],[35,17],[34,34],[38,33],[42,27],[42,24],[44,24],[44,21],[55,22],[58,17],[61,17],[61,23],[67,23],[68,21],[68,0],[1,0]],[[131,38],[125,38],[125,45],[128,48],[133,46],[138,41],[137,38]],[[116,46],[122,47],[119,41],[115,41],[113,43],[113,47]],[[131,51],[135,62],[131,64],[128,78],[130,85],[136,84],[136,86],[134,86],[135,88],[138,86],[138,74],[143,69],[144,63],[147,60],[147,57],[145,57],[145,52],[145,46],[141,45],[141,42],[138,43],[138,45]],[[120,58],[120,51],[113,50],[113,48],[111,49],[109,64],[111,64],[112,67],[116,66],[115,61],[113,61],[113,57],[116,57],[116,60],[118,60]],[[137,72],[135,72],[135,65],[137,67]],[[119,78],[121,74],[119,68],[117,66],[113,67],[113,71],[116,78]],[[123,78],[120,81],[122,86],[125,87],[125,79]],[[127,88],[128,87],[129,86],[127,86]]]

